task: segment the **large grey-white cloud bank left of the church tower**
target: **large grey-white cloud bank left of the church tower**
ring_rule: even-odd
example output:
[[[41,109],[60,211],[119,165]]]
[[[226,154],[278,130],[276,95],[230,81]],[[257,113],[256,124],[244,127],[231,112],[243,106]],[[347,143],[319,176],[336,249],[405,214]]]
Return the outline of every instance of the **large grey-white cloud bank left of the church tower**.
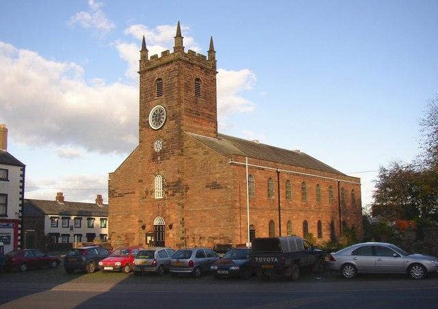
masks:
[[[0,42],[0,121],[17,142],[74,145],[101,153],[138,143],[138,88],[102,79]]]

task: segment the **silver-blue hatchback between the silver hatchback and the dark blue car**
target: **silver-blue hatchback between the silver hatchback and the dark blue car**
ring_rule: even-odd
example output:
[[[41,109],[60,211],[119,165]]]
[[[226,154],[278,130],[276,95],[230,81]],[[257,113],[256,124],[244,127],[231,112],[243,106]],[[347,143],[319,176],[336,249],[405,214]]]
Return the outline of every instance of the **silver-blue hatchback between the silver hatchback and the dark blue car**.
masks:
[[[172,255],[169,270],[173,276],[192,273],[194,278],[198,278],[203,272],[209,271],[211,264],[218,259],[218,254],[207,248],[180,249]]]

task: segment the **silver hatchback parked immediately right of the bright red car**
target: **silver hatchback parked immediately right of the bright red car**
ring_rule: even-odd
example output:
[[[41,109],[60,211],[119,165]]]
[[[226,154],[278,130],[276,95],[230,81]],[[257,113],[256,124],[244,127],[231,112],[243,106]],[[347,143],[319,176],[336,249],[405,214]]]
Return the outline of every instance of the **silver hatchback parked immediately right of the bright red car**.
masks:
[[[170,267],[170,256],[175,250],[169,247],[156,247],[140,250],[136,254],[132,271],[134,275],[139,276],[145,273],[157,273],[163,276],[165,271]]]

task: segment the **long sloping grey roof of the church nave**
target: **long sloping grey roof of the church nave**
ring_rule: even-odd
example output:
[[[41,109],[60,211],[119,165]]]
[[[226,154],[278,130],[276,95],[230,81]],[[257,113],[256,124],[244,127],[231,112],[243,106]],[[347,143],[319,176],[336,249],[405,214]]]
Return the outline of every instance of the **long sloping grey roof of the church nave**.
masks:
[[[311,170],[318,170],[320,172],[345,175],[344,173],[335,170],[333,167],[309,156],[309,154],[297,150],[287,150],[220,133],[218,134],[217,139],[194,133],[189,134],[198,139],[199,142],[202,142],[209,148],[223,154],[224,156],[237,154],[243,157],[261,159],[296,167],[304,167]]]

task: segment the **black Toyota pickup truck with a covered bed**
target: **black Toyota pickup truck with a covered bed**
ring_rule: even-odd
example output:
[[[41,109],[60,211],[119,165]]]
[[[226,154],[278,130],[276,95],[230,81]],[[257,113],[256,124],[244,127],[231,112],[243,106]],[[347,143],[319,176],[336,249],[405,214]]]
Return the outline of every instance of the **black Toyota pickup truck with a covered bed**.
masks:
[[[298,280],[302,267],[324,270],[324,251],[298,236],[253,239],[251,257],[257,276],[263,278],[279,274]]]

